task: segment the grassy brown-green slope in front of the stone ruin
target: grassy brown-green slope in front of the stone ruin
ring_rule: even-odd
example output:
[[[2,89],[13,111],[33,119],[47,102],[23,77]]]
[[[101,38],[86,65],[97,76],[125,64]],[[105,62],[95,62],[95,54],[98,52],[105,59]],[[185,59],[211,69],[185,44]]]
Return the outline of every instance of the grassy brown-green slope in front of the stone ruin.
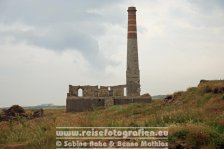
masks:
[[[210,83],[209,87],[223,84]],[[208,85],[173,94],[171,101],[116,105],[93,111],[66,113],[45,110],[44,117],[0,122],[0,144],[25,144],[26,148],[55,148],[59,126],[167,126],[169,148],[224,148],[224,94],[207,92]]]

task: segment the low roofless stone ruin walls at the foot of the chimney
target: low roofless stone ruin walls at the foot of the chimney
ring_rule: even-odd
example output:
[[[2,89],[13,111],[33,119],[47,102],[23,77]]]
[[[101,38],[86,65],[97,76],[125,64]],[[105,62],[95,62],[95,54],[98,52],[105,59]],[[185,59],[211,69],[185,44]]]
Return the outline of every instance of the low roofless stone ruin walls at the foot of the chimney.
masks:
[[[92,110],[99,106],[112,106],[119,104],[150,102],[149,95],[143,96],[125,96],[124,88],[126,85],[117,86],[72,86],[69,85],[69,93],[66,100],[67,112],[80,112]],[[82,96],[78,96],[78,90],[83,92]]]

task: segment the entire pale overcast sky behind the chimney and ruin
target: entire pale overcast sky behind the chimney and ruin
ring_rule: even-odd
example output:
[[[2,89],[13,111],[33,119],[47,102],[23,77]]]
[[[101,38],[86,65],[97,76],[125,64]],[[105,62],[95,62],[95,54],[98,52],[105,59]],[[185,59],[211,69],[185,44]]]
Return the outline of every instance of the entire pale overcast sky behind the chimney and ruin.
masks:
[[[0,0],[0,107],[65,105],[69,84],[125,84],[129,6],[142,94],[224,79],[223,0]]]

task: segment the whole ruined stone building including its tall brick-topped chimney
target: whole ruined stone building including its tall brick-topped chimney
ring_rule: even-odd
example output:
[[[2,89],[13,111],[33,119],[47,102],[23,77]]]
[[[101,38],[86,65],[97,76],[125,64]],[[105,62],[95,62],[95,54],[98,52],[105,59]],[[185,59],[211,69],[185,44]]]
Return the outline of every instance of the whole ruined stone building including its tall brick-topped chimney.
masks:
[[[140,72],[138,63],[138,44],[136,8],[128,8],[127,71],[126,85],[116,86],[73,86],[69,85],[66,99],[67,112],[92,110],[99,106],[128,103],[148,103],[149,94],[140,95]],[[78,93],[82,92],[80,96]]]

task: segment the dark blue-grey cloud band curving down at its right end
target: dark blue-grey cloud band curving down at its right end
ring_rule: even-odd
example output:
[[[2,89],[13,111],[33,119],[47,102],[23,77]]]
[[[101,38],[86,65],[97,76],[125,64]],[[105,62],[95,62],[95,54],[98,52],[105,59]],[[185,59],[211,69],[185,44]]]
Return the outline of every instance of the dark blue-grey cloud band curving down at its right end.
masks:
[[[26,42],[56,52],[77,50],[90,64],[97,65],[97,68],[102,69],[107,63],[104,56],[99,53],[97,40],[84,32],[71,28],[51,28],[45,34],[41,31],[0,32],[0,36],[1,42],[4,42],[4,38],[10,37],[14,38],[13,42]]]

